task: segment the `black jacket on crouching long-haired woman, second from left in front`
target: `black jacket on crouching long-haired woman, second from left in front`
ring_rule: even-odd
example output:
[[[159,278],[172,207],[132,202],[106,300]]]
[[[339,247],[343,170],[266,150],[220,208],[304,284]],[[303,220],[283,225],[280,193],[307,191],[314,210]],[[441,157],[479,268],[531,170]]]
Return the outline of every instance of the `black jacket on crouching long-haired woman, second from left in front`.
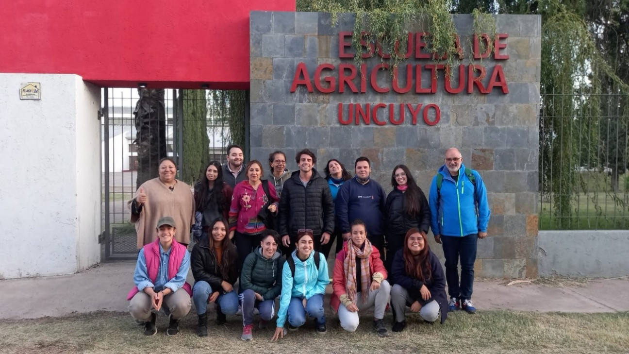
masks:
[[[192,248],[192,256],[190,258],[190,267],[192,268],[194,281],[199,282],[203,280],[208,282],[212,290],[221,292],[223,291],[223,287],[221,287],[223,280],[234,285],[238,275],[240,275],[240,270],[238,269],[238,253],[236,247],[231,243],[228,248],[223,249],[223,261],[227,258],[231,260],[231,266],[228,270],[227,279],[224,279],[218,264],[216,264],[214,253],[209,250],[208,240],[202,239],[201,242],[195,244],[194,248]]]

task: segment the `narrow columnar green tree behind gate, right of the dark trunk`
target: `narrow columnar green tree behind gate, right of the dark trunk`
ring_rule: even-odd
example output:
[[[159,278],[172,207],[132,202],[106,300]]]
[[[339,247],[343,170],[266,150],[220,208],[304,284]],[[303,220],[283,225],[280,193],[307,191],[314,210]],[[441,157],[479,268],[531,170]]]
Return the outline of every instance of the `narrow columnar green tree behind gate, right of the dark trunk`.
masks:
[[[183,90],[183,163],[182,177],[189,185],[199,177],[209,163],[208,107],[206,91],[202,89]]]

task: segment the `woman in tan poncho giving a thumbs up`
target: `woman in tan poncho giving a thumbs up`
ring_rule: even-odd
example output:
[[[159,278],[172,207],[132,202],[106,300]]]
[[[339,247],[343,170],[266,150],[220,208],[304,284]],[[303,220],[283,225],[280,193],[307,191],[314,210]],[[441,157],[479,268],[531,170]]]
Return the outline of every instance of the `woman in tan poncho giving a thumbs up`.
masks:
[[[131,222],[138,234],[138,249],[157,239],[153,225],[163,216],[175,220],[178,243],[190,243],[190,229],[194,224],[194,197],[189,185],[175,178],[177,166],[170,157],[159,162],[159,177],[142,183],[135,198],[127,202]],[[179,232],[181,230],[181,232]]]

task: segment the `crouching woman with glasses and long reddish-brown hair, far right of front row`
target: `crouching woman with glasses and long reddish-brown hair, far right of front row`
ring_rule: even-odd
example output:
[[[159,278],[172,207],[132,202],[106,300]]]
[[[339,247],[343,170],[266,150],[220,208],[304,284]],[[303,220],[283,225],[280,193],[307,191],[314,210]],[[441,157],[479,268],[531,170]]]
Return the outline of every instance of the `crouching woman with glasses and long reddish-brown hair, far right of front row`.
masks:
[[[424,321],[441,323],[448,317],[448,298],[445,294],[445,275],[437,256],[428,246],[426,234],[413,228],[406,232],[404,248],[395,254],[392,271],[391,309],[393,331],[406,327],[406,306],[420,314]]]

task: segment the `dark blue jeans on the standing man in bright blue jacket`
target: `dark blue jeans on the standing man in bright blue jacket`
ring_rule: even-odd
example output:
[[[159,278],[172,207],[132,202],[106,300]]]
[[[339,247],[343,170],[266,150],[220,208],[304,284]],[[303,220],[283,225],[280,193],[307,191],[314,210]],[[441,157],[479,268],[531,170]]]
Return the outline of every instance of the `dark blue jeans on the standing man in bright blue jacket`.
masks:
[[[464,237],[442,235],[441,241],[443,256],[445,256],[445,280],[448,282],[448,295],[460,300],[472,299],[478,234],[469,234]],[[459,258],[461,260],[460,285]]]

